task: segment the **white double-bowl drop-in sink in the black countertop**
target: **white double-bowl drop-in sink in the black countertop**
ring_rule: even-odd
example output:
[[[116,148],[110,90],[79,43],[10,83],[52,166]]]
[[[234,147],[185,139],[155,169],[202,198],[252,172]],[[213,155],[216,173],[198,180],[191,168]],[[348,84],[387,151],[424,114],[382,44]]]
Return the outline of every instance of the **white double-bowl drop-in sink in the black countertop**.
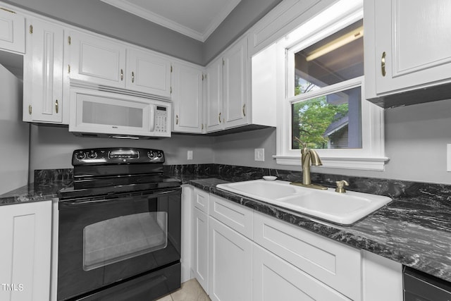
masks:
[[[390,197],[349,190],[338,193],[333,188],[304,188],[283,180],[249,180],[216,188],[343,226],[352,225],[392,201]]]

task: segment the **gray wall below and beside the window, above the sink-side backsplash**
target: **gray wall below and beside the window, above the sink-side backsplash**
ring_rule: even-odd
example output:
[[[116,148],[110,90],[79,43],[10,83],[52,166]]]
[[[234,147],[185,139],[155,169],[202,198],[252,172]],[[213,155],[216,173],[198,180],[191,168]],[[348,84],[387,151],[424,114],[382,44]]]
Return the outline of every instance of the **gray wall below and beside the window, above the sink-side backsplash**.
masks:
[[[451,100],[385,110],[385,171],[352,171],[312,167],[318,173],[391,178],[451,184],[446,171],[446,145],[451,144]],[[254,161],[254,148],[265,148],[265,161]],[[214,163],[301,170],[277,165],[276,130],[257,130],[216,137]]]

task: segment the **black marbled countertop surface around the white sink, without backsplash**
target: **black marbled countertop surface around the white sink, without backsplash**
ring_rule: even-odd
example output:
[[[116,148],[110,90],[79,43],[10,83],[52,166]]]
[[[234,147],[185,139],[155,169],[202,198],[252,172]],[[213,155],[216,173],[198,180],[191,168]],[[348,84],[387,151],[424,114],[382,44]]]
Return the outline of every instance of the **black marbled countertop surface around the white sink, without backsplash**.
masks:
[[[216,188],[217,184],[228,183],[230,179],[182,180],[319,235],[451,281],[451,208],[393,199],[353,226],[336,226]]]

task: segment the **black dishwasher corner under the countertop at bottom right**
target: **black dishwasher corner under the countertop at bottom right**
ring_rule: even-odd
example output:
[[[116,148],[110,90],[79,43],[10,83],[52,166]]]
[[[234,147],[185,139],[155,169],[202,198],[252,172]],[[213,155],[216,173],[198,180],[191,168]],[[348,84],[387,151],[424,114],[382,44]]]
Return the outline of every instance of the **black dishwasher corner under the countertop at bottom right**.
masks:
[[[404,266],[404,301],[451,301],[451,283]]]

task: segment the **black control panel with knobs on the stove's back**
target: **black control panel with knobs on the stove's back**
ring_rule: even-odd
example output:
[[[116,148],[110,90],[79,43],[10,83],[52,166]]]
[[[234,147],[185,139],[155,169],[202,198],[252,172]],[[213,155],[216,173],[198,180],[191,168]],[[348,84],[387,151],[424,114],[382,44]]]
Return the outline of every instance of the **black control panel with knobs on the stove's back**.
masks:
[[[104,149],[76,149],[72,154],[72,165],[108,165],[133,163],[163,163],[161,149],[109,147]]]

